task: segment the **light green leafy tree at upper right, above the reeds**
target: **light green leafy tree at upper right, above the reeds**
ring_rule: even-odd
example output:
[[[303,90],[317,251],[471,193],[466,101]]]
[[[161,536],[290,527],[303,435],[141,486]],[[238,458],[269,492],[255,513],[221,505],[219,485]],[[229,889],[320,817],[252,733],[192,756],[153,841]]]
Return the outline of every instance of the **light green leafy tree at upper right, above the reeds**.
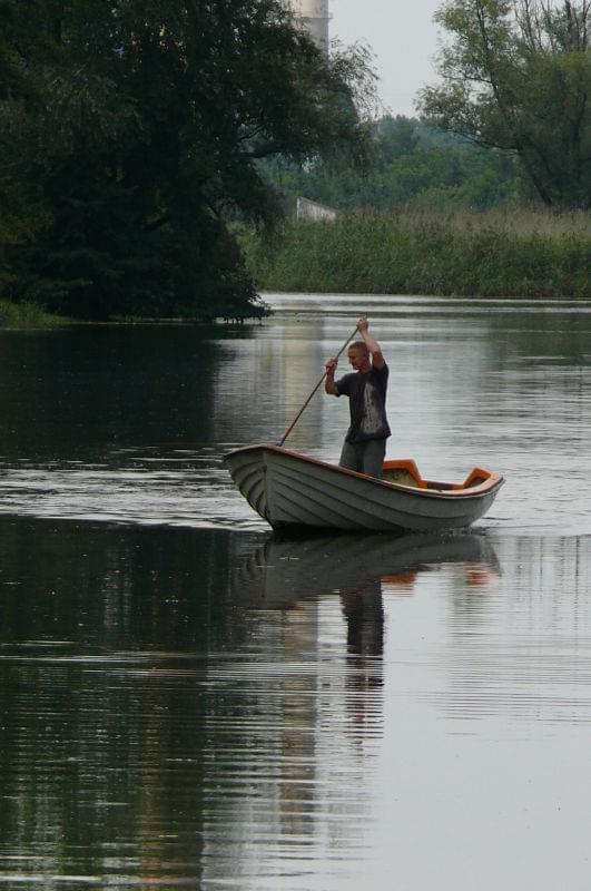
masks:
[[[435,126],[519,157],[548,206],[591,205],[590,7],[450,0],[439,86],[422,92]]]

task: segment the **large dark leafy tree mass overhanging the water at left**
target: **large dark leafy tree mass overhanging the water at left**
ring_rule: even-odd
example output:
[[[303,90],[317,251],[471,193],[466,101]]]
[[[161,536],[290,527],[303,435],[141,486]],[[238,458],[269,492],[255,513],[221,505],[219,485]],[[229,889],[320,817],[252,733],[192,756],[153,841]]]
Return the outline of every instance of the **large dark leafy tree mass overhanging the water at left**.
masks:
[[[227,218],[257,163],[363,155],[354,52],[277,0],[0,0],[0,296],[105,319],[263,311]]]

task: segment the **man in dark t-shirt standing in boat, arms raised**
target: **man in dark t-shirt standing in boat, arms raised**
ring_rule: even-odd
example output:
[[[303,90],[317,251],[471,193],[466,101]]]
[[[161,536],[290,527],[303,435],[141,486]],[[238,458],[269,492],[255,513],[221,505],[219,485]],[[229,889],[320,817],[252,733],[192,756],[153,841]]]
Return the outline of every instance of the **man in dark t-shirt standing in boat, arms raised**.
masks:
[[[357,331],[363,340],[348,347],[354,369],[335,381],[338,359],[326,363],[324,389],[333,396],[348,396],[351,425],[347,430],[339,466],[368,477],[382,478],[390,427],[386,418],[388,368],[380,344],[370,334],[367,319],[359,319]]]

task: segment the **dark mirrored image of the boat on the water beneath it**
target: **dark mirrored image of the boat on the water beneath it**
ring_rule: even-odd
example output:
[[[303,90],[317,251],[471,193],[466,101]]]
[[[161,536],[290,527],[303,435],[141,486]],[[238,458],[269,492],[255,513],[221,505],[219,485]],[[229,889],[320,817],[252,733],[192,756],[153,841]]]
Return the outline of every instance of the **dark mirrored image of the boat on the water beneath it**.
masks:
[[[376,585],[382,591],[410,590],[418,572],[444,564],[462,564],[470,585],[499,574],[492,545],[481,535],[272,536],[236,570],[233,590],[250,608],[287,609],[299,600]]]

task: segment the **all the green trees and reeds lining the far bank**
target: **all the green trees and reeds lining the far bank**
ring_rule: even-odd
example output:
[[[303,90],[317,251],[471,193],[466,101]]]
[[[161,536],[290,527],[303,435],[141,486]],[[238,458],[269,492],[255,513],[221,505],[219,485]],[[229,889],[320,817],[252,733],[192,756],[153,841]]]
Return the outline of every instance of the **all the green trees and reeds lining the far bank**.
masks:
[[[417,118],[292,6],[0,0],[0,327],[591,297],[590,0],[447,0]]]

